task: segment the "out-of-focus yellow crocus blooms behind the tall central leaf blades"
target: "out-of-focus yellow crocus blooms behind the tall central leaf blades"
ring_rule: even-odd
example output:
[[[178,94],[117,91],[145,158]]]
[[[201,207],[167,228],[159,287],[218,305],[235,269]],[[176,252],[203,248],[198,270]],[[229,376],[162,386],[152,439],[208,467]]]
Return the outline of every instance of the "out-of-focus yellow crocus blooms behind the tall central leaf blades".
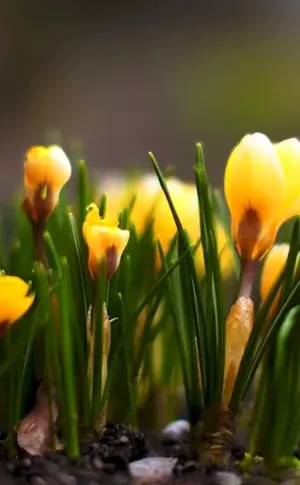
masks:
[[[188,232],[191,243],[196,244],[200,239],[196,187],[194,184],[182,182],[175,177],[167,179],[167,186],[183,227]],[[176,225],[156,175],[147,174],[128,185],[123,184],[123,186],[119,181],[117,193],[114,190],[113,180],[110,184],[104,184],[103,189],[108,194],[107,210],[110,217],[116,217],[118,211],[126,207],[135,196],[135,204],[130,215],[131,222],[137,232],[141,234],[149,219],[153,218],[154,236],[160,240],[164,252],[168,251],[170,242],[176,234]],[[234,256],[229,245],[228,235],[218,220],[216,220],[216,235],[221,271],[223,276],[226,277],[232,273]],[[196,252],[195,262],[199,274],[203,275],[204,258],[201,245]],[[157,264],[160,265],[158,255]]]

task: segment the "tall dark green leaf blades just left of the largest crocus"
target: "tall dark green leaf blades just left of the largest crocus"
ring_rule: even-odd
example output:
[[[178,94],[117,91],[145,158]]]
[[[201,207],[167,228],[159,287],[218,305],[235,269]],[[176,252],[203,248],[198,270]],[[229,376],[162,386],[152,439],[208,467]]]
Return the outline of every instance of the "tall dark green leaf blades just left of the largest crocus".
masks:
[[[178,256],[190,247],[168,191],[161,170],[152,154],[154,170],[172,211],[178,231]],[[221,405],[225,359],[224,293],[215,219],[207,183],[201,146],[197,146],[196,186],[199,199],[201,243],[206,277],[205,295],[195,265],[193,252],[182,259],[179,270],[168,279],[168,300],[172,309],[174,332],[180,352],[180,363],[191,424],[199,423],[204,409]],[[168,262],[161,251],[163,265]]]

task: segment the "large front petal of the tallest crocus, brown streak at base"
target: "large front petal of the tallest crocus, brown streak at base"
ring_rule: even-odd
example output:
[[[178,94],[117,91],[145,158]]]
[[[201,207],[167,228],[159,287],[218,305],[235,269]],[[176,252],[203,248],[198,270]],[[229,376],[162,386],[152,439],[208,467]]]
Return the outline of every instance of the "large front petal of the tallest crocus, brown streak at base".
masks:
[[[284,171],[265,135],[246,135],[233,149],[224,189],[240,256],[245,251],[246,258],[261,257],[274,241],[286,193]]]

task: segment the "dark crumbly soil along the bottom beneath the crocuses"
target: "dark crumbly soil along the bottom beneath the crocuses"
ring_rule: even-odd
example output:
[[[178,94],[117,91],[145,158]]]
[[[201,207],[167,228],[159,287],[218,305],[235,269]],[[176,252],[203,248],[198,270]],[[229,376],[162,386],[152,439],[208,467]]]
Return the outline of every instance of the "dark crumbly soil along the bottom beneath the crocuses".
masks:
[[[256,471],[256,478],[250,477],[252,481],[249,481],[249,477],[246,481],[240,477],[234,462],[242,459],[244,452],[243,444],[236,443],[231,450],[232,464],[229,468],[204,468],[192,460],[187,440],[166,440],[158,433],[142,433],[123,425],[107,425],[96,439],[82,443],[81,456],[76,462],[69,460],[62,451],[48,452],[44,456],[29,456],[20,450],[19,458],[14,460],[7,460],[2,456],[0,485],[133,485],[142,482],[133,480],[129,464],[151,456],[177,459],[173,475],[168,479],[156,481],[156,484],[275,483],[259,477],[259,470]],[[147,483],[155,485],[153,480]]]

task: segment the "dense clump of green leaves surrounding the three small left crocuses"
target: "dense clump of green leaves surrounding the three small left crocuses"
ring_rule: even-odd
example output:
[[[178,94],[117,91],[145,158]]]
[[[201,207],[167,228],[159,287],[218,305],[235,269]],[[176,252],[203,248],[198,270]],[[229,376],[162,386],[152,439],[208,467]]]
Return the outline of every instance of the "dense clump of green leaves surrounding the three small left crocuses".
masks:
[[[113,422],[137,426],[139,410],[157,383],[165,387],[170,375],[176,370],[178,374],[174,346],[165,345],[166,355],[159,359],[155,346],[159,339],[167,343],[171,338],[165,285],[180,263],[174,260],[172,244],[164,255],[168,269],[157,270],[153,220],[137,234],[130,221],[133,200],[119,217],[120,227],[130,229],[120,266],[109,282],[104,276],[93,281],[82,224],[96,191],[84,162],[78,163],[75,177],[76,204],[69,206],[63,191],[43,235],[50,270],[44,261],[35,261],[32,228],[20,199],[3,221],[0,252],[2,270],[31,280],[35,293],[32,310],[0,339],[0,386],[7,396],[1,402],[1,425],[11,433],[34,405],[39,384],[46,382],[49,396],[55,389],[59,427],[70,456],[78,455],[80,437],[97,428],[103,411]],[[102,216],[106,205],[104,194],[99,203]],[[100,275],[106,275],[104,267]],[[108,355],[104,309],[110,319]],[[170,373],[164,372],[166,360],[174,364]],[[51,399],[49,405],[51,411]]]

